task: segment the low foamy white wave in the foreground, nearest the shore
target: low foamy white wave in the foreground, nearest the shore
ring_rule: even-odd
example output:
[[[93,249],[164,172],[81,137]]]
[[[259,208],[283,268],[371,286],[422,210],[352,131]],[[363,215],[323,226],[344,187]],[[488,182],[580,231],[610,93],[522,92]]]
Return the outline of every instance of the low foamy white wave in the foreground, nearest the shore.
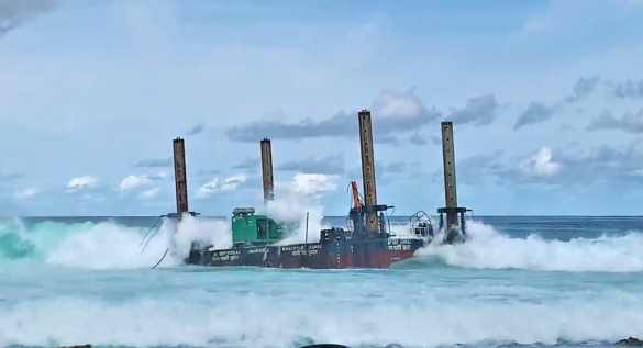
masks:
[[[217,276],[200,283],[207,291],[152,293],[115,303],[60,295],[0,306],[0,346],[91,343],[259,348],[298,347],[311,341],[353,347],[485,341],[556,345],[558,340],[613,343],[643,334],[640,296],[616,291],[594,295],[577,292],[565,299],[530,303],[480,299],[453,288],[412,296],[418,284],[389,282],[387,287],[385,279],[377,284],[383,284],[388,294],[375,288],[365,290],[348,278],[341,279],[344,285],[336,278],[274,281],[263,284],[262,291],[256,284],[248,285],[256,273],[244,278],[245,284],[232,281],[225,272]],[[222,282],[226,291],[221,291],[222,285],[214,287],[215,282]],[[406,293],[400,294],[400,287]]]

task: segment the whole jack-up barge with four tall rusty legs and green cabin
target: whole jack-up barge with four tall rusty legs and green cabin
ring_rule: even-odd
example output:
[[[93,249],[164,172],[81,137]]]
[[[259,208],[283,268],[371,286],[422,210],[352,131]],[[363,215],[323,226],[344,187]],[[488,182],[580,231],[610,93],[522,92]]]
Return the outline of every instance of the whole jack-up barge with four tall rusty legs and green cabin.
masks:
[[[370,112],[362,110],[357,117],[365,194],[362,200],[357,183],[351,182],[353,207],[348,212],[352,225],[350,228],[332,227],[312,232],[319,233],[319,242],[315,243],[281,245],[281,240],[287,237],[284,225],[268,215],[256,214],[254,207],[237,207],[234,209],[231,218],[232,246],[215,248],[195,240],[185,262],[219,267],[389,268],[395,262],[412,257],[418,249],[435,243],[431,220],[422,211],[411,216],[408,235],[396,236],[390,232],[385,212],[392,206],[377,204]],[[452,122],[442,122],[442,141],[446,207],[439,209],[439,231],[445,229],[442,243],[463,243],[466,237],[465,213],[469,210],[457,206]],[[260,147],[264,200],[268,202],[274,197],[270,141],[263,139]],[[168,214],[167,217],[180,221],[187,215],[199,215],[188,210],[182,138],[174,139],[174,161],[177,212]],[[446,224],[443,214],[446,215]]]

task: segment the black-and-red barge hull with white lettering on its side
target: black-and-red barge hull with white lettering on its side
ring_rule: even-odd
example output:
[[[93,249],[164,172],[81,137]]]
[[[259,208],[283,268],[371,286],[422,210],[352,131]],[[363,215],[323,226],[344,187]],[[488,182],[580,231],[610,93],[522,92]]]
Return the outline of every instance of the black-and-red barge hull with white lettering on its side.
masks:
[[[421,238],[388,238],[209,249],[198,258],[190,254],[186,261],[212,267],[389,268],[395,262],[412,257],[425,244]]]

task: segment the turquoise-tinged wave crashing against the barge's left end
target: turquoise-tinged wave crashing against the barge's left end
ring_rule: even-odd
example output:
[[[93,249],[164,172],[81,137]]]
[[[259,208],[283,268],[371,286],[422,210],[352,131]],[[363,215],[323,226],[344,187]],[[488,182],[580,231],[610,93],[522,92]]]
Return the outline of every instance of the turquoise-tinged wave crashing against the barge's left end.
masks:
[[[186,218],[174,233],[163,221],[145,247],[141,242],[149,227],[129,227],[113,222],[62,223],[45,221],[26,226],[20,218],[0,224],[0,261],[3,266],[55,265],[88,269],[136,269],[156,265],[176,267],[187,256],[192,239],[217,246],[232,243],[226,222]],[[154,232],[152,232],[154,233]],[[147,237],[151,237],[149,234]]]

